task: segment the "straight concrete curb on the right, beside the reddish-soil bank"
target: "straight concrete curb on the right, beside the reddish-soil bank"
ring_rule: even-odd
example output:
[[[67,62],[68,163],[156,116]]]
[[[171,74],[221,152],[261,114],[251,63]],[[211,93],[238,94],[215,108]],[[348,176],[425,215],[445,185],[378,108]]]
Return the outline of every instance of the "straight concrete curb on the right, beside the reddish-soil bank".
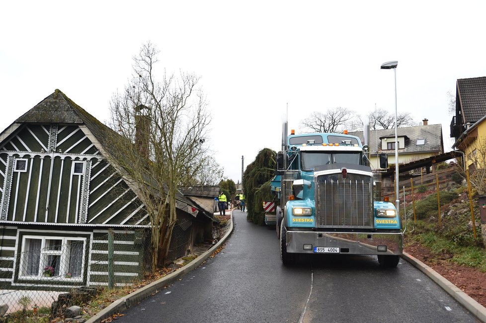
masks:
[[[435,270],[418,260],[417,258],[404,252],[402,257],[432,279],[437,285],[442,287],[449,295],[456,301],[461,303],[469,312],[471,312],[478,320],[486,323],[486,308],[472,299],[468,294],[460,290],[456,285],[439,275]]]

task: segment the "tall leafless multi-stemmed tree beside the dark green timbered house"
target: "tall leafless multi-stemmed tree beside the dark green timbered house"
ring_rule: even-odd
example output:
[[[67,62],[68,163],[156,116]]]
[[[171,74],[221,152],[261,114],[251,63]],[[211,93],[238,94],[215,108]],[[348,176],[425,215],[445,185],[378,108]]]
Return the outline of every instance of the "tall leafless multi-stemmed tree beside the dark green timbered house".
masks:
[[[113,96],[113,162],[126,170],[145,204],[152,233],[152,260],[163,266],[177,220],[178,188],[196,178],[206,155],[210,116],[199,77],[180,72],[155,77],[159,52],[150,43],[134,57],[134,75]]]

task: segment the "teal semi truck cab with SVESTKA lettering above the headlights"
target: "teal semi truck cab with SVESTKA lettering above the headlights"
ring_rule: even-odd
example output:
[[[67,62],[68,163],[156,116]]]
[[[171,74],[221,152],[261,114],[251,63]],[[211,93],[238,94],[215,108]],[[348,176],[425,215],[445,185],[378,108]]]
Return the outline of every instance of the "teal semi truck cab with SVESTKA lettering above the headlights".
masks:
[[[302,253],[332,253],[377,255],[381,265],[396,267],[402,223],[395,206],[382,201],[367,145],[347,132],[287,136],[283,128],[272,181],[283,264]]]

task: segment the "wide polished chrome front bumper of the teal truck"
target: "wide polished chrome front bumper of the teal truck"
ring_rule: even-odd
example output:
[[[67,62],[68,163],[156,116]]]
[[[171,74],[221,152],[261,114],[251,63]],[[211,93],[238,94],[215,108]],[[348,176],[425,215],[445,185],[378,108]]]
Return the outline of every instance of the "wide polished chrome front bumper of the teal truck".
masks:
[[[287,252],[295,253],[314,253],[315,247],[337,247],[344,254],[400,255],[403,245],[402,233],[287,231]],[[386,246],[386,251],[378,251],[378,246],[380,250]]]

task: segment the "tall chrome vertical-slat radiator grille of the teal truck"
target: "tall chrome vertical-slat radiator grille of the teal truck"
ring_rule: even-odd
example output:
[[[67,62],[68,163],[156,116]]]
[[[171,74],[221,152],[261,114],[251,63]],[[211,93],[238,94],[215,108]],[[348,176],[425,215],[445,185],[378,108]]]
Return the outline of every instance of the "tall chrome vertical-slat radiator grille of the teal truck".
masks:
[[[317,225],[321,228],[372,228],[373,177],[347,173],[320,175],[316,182]]]

